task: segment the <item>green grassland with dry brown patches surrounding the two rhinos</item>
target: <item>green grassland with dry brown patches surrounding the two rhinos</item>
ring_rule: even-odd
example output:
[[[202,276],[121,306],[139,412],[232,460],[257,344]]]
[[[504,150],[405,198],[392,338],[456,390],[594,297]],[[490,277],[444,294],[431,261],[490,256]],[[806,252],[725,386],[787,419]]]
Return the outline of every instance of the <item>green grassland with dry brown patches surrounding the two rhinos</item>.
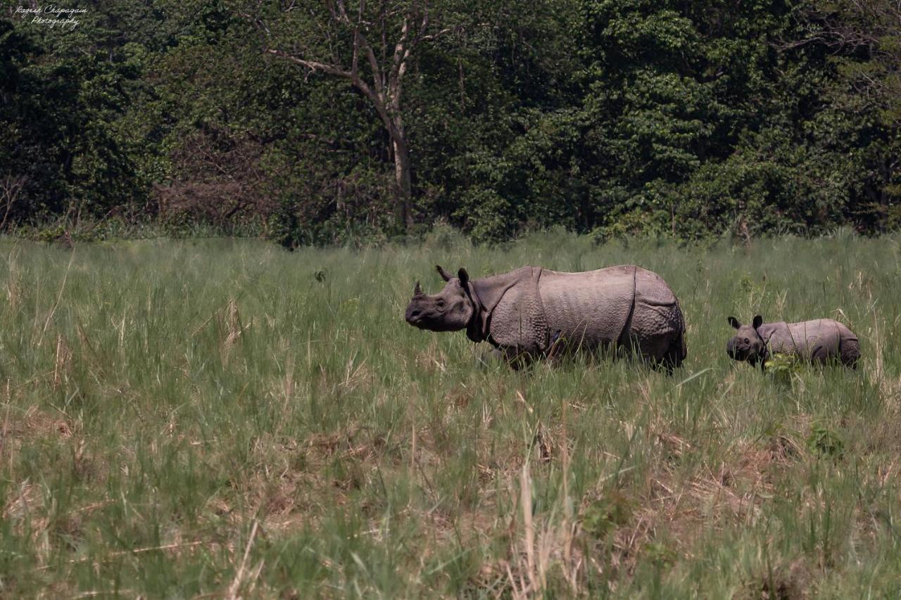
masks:
[[[0,595],[896,597],[899,241],[0,239]],[[673,377],[403,321],[435,263],[628,262]],[[859,370],[734,365],[756,313],[841,319]]]

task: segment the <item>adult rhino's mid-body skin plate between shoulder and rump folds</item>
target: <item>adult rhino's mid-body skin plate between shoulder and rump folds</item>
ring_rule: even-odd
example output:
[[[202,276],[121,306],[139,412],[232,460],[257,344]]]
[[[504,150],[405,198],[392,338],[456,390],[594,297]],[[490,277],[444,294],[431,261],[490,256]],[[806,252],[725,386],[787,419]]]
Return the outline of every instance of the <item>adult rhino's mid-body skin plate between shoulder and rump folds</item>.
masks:
[[[591,345],[617,341],[632,312],[635,269],[623,265],[582,273],[544,270],[539,289],[549,330]]]

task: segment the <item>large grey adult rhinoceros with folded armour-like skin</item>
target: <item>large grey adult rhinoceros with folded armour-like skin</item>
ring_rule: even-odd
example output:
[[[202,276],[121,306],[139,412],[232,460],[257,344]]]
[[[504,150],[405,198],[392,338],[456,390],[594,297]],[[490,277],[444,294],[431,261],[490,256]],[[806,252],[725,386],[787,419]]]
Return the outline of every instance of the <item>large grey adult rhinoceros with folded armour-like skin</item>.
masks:
[[[547,355],[552,349],[623,349],[671,369],[686,357],[685,319],[676,296],[656,273],[634,265],[561,273],[523,267],[470,279],[465,268],[447,285],[423,294],[416,282],[406,322],[433,332],[462,329],[488,341],[505,358]]]

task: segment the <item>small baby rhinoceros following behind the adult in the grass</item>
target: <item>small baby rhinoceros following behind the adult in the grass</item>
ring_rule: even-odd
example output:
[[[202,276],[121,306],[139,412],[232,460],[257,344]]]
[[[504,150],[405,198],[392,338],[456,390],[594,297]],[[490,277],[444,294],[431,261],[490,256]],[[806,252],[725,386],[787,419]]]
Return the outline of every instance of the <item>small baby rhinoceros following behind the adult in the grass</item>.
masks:
[[[729,324],[736,330],[726,342],[726,353],[735,360],[744,360],[751,367],[764,367],[769,356],[788,354],[813,363],[840,360],[842,365],[857,368],[860,343],[857,336],[842,323],[833,319],[815,319],[801,323],[763,323],[758,314],[750,325],[742,325],[735,317]]]

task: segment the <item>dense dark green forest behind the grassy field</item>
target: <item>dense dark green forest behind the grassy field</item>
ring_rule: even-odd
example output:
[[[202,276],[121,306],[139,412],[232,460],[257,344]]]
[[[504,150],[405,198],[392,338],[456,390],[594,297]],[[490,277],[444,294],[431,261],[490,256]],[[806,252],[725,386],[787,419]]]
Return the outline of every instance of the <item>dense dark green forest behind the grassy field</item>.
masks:
[[[896,0],[73,6],[0,13],[5,232],[295,248],[901,224]]]

